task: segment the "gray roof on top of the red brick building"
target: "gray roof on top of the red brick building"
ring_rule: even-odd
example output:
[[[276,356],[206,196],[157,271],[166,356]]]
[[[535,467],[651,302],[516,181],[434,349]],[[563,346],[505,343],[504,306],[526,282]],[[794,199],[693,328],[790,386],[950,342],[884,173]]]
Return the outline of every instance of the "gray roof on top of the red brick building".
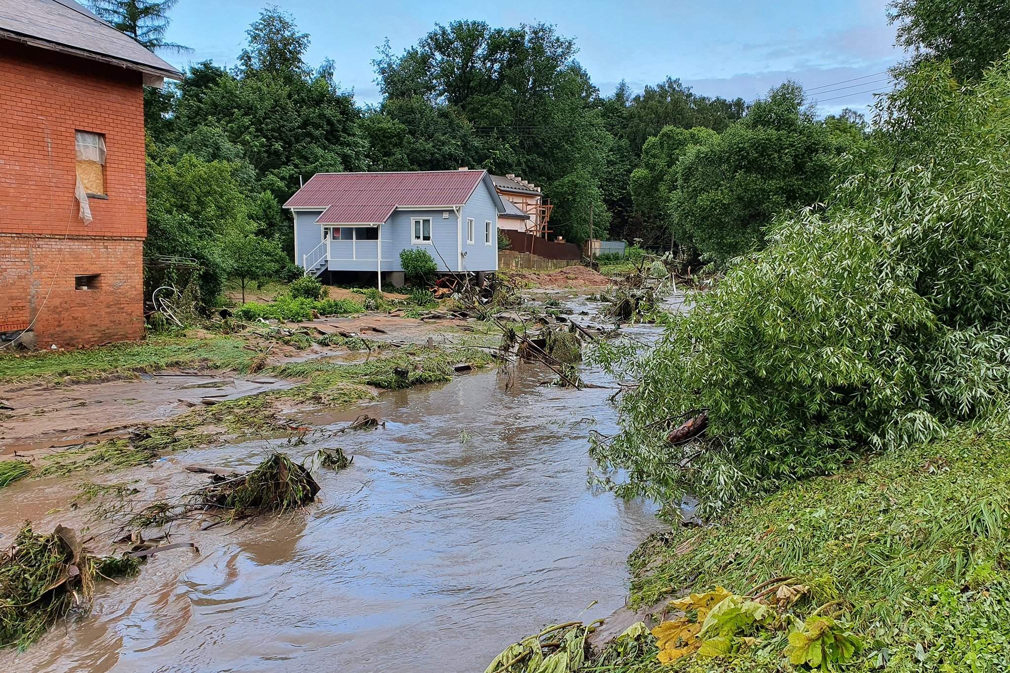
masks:
[[[2,0],[0,38],[179,80],[182,73],[73,0]]]

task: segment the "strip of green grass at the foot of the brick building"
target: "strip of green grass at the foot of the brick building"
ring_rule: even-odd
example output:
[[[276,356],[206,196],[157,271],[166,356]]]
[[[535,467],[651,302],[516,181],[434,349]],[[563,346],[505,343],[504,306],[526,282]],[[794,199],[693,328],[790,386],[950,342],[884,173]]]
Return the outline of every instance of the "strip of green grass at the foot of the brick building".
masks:
[[[70,378],[75,381],[157,371],[166,367],[206,365],[245,371],[257,353],[232,336],[210,338],[154,336],[80,350],[0,351],[0,381],[27,382]]]

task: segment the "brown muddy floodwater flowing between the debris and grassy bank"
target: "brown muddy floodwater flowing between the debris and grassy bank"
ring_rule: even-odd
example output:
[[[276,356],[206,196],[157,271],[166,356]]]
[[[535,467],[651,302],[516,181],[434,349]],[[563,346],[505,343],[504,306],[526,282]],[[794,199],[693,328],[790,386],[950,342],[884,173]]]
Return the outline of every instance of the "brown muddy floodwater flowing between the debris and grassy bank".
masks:
[[[138,578],[102,583],[90,616],[0,654],[0,670],[479,673],[545,624],[610,614],[627,593],[627,555],[661,525],[650,503],[586,484],[586,438],[613,430],[613,390],[540,384],[550,377],[534,365],[472,373],[346,413],[302,412],[316,429],[304,445],[246,441],[104,475],[164,496],[159,484],[178,489],[195,462],[244,469],[272,448],[355,456],[320,474],[304,512],[178,527],[172,542],[199,554],[163,552]],[[332,432],[363,409],[386,427]],[[25,519],[84,525],[85,508],[69,509],[75,483],[5,488],[0,546]]]

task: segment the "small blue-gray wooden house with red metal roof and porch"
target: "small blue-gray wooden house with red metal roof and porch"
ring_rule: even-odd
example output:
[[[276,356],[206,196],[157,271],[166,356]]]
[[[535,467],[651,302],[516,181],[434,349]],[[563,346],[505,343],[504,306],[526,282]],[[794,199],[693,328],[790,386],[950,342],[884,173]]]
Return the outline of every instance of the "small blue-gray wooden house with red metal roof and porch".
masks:
[[[295,262],[306,274],[376,273],[402,285],[400,251],[443,273],[498,270],[505,205],[486,171],[320,173],[292,196]]]

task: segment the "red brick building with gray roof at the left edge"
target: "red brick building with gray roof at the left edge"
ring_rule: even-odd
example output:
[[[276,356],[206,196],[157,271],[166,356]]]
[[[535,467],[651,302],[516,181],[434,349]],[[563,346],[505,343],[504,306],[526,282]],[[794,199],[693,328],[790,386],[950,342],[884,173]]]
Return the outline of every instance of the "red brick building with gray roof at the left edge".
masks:
[[[0,343],[143,333],[143,85],[169,64],[71,0],[0,2]]]

